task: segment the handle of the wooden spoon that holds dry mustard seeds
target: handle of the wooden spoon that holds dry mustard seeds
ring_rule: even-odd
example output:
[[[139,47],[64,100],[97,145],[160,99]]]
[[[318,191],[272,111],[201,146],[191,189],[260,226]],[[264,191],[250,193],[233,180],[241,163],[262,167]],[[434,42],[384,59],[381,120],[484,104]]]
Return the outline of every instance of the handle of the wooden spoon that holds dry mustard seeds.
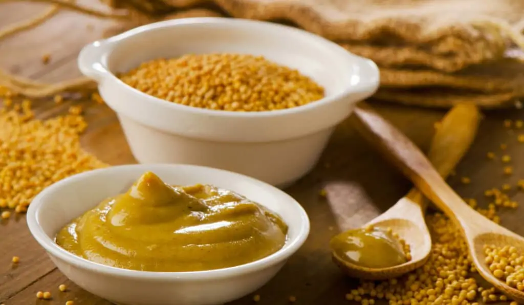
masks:
[[[397,128],[364,103],[355,109],[355,125],[359,132],[377,146],[379,151],[446,215],[466,231],[489,222],[476,213],[447,185],[428,158]],[[466,228],[467,227],[467,228]]]

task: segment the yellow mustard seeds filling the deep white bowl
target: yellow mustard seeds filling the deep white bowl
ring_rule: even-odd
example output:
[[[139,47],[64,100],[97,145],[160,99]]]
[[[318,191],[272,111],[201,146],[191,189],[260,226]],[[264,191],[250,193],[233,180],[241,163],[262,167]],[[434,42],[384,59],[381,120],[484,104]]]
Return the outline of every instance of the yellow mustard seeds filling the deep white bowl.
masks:
[[[253,55],[217,53],[156,59],[120,78],[160,99],[212,110],[281,110],[324,97],[324,89],[297,70]]]

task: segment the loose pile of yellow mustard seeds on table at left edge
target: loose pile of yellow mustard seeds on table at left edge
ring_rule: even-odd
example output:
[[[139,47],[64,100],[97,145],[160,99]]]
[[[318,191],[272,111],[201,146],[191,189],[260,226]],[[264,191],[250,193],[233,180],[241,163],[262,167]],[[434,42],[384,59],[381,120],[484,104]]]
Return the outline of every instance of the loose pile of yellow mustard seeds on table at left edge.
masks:
[[[106,166],[80,147],[79,135],[87,124],[78,107],[73,107],[68,115],[41,121],[34,118],[29,100],[15,103],[4,97],[3,105],[0,108],[0,210],[3,219],[10,216],[7,209],[25,212],[35,195],[50,184]]]

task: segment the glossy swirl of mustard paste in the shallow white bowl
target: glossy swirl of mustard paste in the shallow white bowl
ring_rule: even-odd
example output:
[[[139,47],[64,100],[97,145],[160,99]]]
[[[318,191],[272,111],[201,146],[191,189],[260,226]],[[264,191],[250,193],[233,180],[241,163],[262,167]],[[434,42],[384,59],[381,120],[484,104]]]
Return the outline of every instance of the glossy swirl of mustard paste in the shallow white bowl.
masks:
[[[143,271],[201,271],[254,262],[277,252],[288,227],[232,191],[169,186],[146,172],[124,194],[63,227],[56,243],[107,266]]]

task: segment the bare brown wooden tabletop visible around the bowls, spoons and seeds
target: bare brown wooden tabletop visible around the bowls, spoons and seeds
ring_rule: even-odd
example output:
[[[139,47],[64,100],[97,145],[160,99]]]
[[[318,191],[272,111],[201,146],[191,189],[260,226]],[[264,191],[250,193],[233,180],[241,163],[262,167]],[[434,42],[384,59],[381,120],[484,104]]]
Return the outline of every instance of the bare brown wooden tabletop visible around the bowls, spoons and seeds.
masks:
[[[87,1],[87,0],[86,0]],[[38,3],[0,4],[0,28],[34,16],[46,6]],[[90,26],[88,26],[90,25]],[[102,36],[107,22],[72,12],[61,12],[42,26],[0,41],[0,68],[42,81],[58,81],[80,76],[76,58],[80,48]],[[41,57],[51,55],[45,65]],[[114,113],[102,104],[81,101],[89,122],[82,144],[100,159],[112,165],[133,163],[121,127]],[[52,101],[34,103],[39,118],[67,111],[69,103],[55,105]],[[433,123],[443,115],[439,110],[407,108],[375,104],[378,111],[390,119],[422,149],[431,139]],[[524,178],[524,144],[517,143],[518,130],[504,128],[505,118],[524,118],[523,111],[486,112],[479,135],[450,184],[466,198],[476,198],[486,205],[483,192],[515,184]],[[524,129],[520,130],[524,133]],[[514,175],[505,178],[500,161],[487,160],[487,151],[500,155],[501,143],[508,145],[513,158]],[[461,176],[471,177],[472,183],[462,185]],[[328,242],[339,230],[359,226],[385,211],[409,189],[410,183],[386,164],[355,133],[347,122],[336,130],[319,165],[306,177],[286,189],[307,210],[311,219],[308,241],[281,272],[257,294],[259,304],[286,304],[296,296],[297,304],[343,304],[355,281],[346,279],[331,262]],[[319,196],[325,188],[327,197]],[[512,191],[511,197],[524,204],[524,192]],[[524,234],[520,225],[524,208],[517,212],[502,211],[503,224]],[[12,265],[13,256],[20,263]],[[58,286],[66,284],[67,292]],[[37,300],[37,291],[51,291],[51,301]],[[231,304],[251,304],[253,296]],[[24,216],[12,217],[0,223],[0,304],[109,304],[68,281],[52,264],[45,251],[31,237]]]

